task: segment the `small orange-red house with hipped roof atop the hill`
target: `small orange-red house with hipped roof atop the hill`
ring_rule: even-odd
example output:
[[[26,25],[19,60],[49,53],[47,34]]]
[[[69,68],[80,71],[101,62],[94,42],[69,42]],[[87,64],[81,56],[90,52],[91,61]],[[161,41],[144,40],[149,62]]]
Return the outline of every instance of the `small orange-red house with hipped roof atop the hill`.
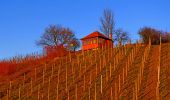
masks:
[[[95,31],[84,38],[81,39],[82,41],[82,50],[89,50],[89,49],[96,49],[102,46],[112,47],[112,35],[107,38],[105,35],[101,34],[98,31]]]

